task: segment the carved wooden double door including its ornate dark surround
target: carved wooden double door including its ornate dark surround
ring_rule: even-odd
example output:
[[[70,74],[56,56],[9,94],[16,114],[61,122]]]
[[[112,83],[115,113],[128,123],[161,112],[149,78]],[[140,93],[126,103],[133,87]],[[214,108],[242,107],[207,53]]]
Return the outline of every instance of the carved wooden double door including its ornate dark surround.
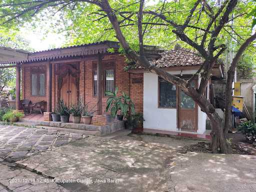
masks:
[[[79,65],[78,64],[65,64],[59,67],[58,76],[58,89],[59,99],[63,100],[67,106],[75,104],[79,95]]]

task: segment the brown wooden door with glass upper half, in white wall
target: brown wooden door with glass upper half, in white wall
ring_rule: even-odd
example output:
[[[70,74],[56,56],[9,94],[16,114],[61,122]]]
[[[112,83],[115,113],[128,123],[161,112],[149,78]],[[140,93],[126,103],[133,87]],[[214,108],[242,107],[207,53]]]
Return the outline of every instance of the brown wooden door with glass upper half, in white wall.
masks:
[[[194,85],[195,83],[193,82]],[[178,88],[178,128],[184,131],[197,130],[197,105],[180,88]]]

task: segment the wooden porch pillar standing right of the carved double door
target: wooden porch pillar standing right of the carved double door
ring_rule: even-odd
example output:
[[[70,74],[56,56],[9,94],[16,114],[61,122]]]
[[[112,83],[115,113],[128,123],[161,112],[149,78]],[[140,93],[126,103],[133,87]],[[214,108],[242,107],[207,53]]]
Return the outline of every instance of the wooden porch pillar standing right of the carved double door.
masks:
[[[102,57],[97,61],[97,114],[102,114]]]

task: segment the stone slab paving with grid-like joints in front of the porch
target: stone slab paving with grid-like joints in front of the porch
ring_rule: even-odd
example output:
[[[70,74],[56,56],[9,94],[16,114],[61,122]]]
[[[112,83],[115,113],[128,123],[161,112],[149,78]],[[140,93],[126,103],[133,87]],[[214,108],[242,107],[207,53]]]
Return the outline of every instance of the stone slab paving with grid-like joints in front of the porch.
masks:
[[[85,135],[43,128],[0,125],[0,159],[16,161],[31,154],[51,149]]]

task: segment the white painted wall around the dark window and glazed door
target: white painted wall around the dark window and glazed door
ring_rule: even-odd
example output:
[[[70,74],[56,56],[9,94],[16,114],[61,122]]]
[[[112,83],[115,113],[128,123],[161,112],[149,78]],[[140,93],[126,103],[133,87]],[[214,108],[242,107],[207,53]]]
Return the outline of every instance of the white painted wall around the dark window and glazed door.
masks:
[[[193,74],[196,70],[183,70],[182,74]],[[171,74],[180,74],[179,71],[170,71]],[[179,131],[176,123],[176,109],[158,108],[158,76],[145,72],[143,80],[143,128],[156,130]],[[200,81],[200,77],[198,79]],[[199,83],[198,83],[199,84]],[[206,114],[198,107],[198,130],[205,131]]]

